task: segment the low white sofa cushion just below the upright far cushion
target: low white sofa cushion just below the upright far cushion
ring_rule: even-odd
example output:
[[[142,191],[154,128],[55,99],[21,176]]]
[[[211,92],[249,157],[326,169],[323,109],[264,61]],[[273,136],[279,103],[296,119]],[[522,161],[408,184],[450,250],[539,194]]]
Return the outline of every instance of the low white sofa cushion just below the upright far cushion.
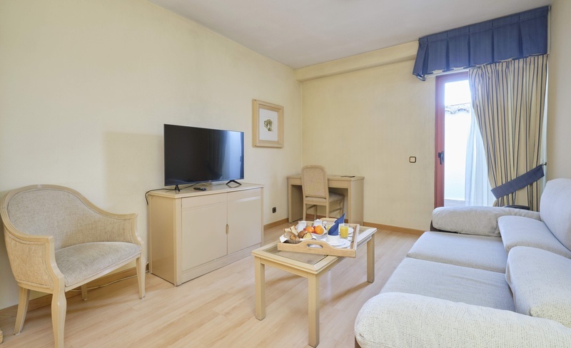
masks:
[[[541,221],[520,216],[502,216],[497,220],[497,225],[500,226],[506,252],[517,246],[537,247],[571,258],[571,251]]]

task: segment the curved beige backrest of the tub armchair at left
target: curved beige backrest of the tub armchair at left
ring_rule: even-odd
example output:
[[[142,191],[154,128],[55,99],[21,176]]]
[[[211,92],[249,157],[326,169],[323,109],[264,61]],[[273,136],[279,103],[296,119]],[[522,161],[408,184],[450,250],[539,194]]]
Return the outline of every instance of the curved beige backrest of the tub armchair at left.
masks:
[[[85,242],[103,241],[113,233],[105,218],[86,198],[69,188],[27,186],[3,200],[2,219],[27,235],[53,235],[56,250]],[[7,221],[6,221],[7,220]],[[127,222],[128,223],[128,222]]]

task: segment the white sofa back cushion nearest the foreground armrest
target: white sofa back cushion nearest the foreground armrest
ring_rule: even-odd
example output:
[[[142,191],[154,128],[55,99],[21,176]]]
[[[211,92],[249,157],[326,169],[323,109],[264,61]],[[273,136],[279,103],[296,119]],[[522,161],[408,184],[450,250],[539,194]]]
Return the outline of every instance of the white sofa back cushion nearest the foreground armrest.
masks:
[[[571,327],[571,260],[533,247],[514,247],[505,279],[518,313]]]

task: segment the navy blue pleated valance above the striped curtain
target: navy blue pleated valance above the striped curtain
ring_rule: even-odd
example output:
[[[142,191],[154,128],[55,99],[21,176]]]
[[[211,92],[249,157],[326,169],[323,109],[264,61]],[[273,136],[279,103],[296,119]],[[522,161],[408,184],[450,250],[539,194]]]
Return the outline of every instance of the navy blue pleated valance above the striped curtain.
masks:
[[[413,75],[450,71],[547,53],[549,6],[418,39]]]

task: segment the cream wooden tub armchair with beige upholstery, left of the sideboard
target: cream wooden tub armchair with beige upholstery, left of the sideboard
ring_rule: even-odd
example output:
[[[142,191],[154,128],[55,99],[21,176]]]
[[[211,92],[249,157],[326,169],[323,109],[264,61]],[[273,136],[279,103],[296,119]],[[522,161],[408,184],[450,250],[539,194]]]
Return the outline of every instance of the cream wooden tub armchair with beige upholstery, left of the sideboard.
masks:
[[[138,296],[145,296],[142,242],[136,215],[107,213],[84,196],[55,185],[12,190],[0,201],[6,250],[20,287],[14,334],[24,326],[30,290],[52,294],[56,347],[64,347],[65,292],[136,260]]]

